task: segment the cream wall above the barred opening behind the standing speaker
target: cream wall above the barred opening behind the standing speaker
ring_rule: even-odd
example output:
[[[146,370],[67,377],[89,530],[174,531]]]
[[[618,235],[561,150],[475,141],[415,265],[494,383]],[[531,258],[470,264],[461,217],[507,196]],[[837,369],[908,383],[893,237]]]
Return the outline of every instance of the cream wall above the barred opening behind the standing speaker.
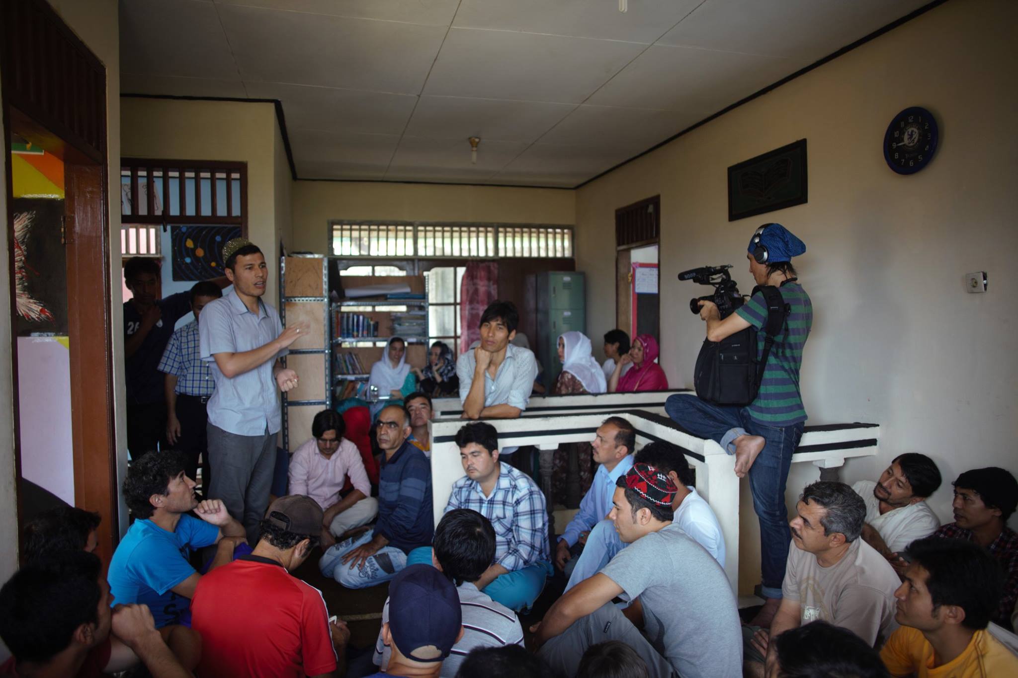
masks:
[[[121,153],[125,158],[170,158],[247,163],[247,237],[262,248],[270,270],[279,269],[276,204],[276,113],[272,104],[124,98]],[[277,275],[266,300],[276,305]]]

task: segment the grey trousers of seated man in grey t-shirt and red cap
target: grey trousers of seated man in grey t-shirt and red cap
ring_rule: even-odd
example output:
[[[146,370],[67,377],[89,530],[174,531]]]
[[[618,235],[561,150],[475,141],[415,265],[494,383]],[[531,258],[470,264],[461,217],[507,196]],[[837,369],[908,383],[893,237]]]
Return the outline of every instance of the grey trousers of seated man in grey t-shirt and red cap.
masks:
[[[582,619],[574,621],[562,635],[546,642],[538,651],[538,655],[562,675],[575,676],[586,649],[605,640],[621,640],[635,650],[646,663],[652,678],[678,675],[668,660],[654,649],[639,629],[612,603],[606,603]]]

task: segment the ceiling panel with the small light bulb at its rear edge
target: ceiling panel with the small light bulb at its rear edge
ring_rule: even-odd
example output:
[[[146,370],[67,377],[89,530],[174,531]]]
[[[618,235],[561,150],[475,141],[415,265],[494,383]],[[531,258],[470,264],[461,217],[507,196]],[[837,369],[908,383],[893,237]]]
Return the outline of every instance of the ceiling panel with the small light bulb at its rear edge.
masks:
[[[406,133],[412,136],[534,141],[568,115],[574,104],[462,97],[421,97]]]

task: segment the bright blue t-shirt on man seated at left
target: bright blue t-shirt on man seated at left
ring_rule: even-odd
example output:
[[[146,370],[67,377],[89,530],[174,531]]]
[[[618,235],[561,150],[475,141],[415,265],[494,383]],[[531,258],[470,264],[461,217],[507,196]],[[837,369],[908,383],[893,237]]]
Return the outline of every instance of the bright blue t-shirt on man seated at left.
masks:
[[[194,573],[188,551],[215,544],[218,536],[219,528],[190,515],[181,515],[172,533],[152,520],[134,520],[110,561],[113,604],[148,605],[156,628],[179,623],[190,599],[170,590]]]

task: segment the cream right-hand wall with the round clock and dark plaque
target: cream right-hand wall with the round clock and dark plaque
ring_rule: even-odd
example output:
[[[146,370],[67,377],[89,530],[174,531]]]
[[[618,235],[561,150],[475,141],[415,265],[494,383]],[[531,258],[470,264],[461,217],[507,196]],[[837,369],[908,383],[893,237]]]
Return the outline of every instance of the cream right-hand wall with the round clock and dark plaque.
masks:
[[[748,292],[749,236],[777,221],[808,247],[796,265],[814,306],[802,370],[809,422],[883,425],[880,457],[850,461],[842,478],[873,478],[894,455],[923,451],[945,478],[931,504],[950,519],[961,471],[1018,474],[1018,137],[1009,131],[1018,91],[1007,84],[1018,76],[1016,24],[1010,0],[948,2],[579,189],[577,269],[588,271],[591,333],[614,324],[605,247],[614,210],[660,193],[662,298],[671,300],[662,364],[673,384],[691,386],[703,324],[686,300],[708,288],[676,274],[732,263]],[[908,106],[937,116],[941,145],[904,177],[881,144]],[[809,202],[729,223],[726,168],[803,137]],[[965,293],[962,276],[975,270],[988,272],[987,294]],[[802,482],[790,481],[790,494]],[[755,528],[751,508],[747,523]],[[758,556],[744,554],[745,569]]]

